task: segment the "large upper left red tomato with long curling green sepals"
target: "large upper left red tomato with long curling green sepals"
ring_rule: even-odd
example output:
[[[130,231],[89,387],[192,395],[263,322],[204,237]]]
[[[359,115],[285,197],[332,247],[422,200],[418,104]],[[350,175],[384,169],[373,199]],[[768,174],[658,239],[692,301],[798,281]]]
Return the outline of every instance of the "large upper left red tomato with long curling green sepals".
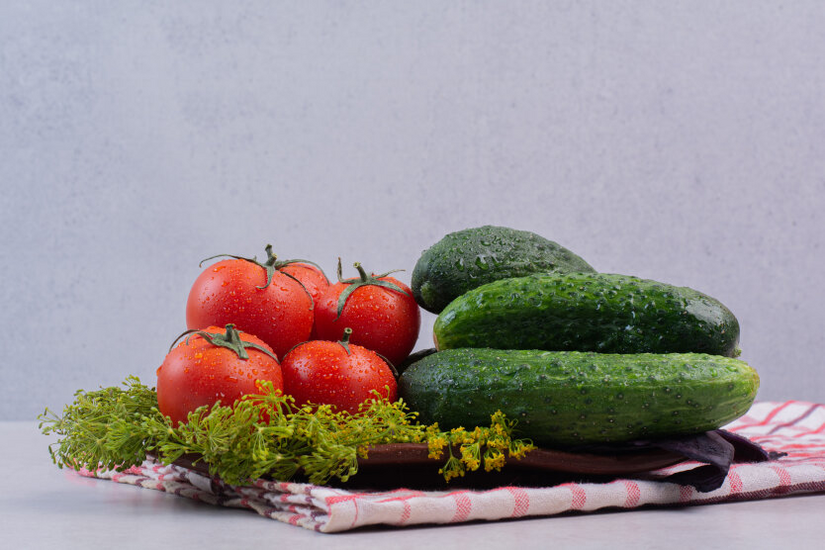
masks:
[[[230,256],[205,269],[189,291],[187,327],[233,323],[266,342],[278,357],[306,341],[314,319],[312,297],[294,277],[278,269],[272,247],[266,251],[265,263]]]

